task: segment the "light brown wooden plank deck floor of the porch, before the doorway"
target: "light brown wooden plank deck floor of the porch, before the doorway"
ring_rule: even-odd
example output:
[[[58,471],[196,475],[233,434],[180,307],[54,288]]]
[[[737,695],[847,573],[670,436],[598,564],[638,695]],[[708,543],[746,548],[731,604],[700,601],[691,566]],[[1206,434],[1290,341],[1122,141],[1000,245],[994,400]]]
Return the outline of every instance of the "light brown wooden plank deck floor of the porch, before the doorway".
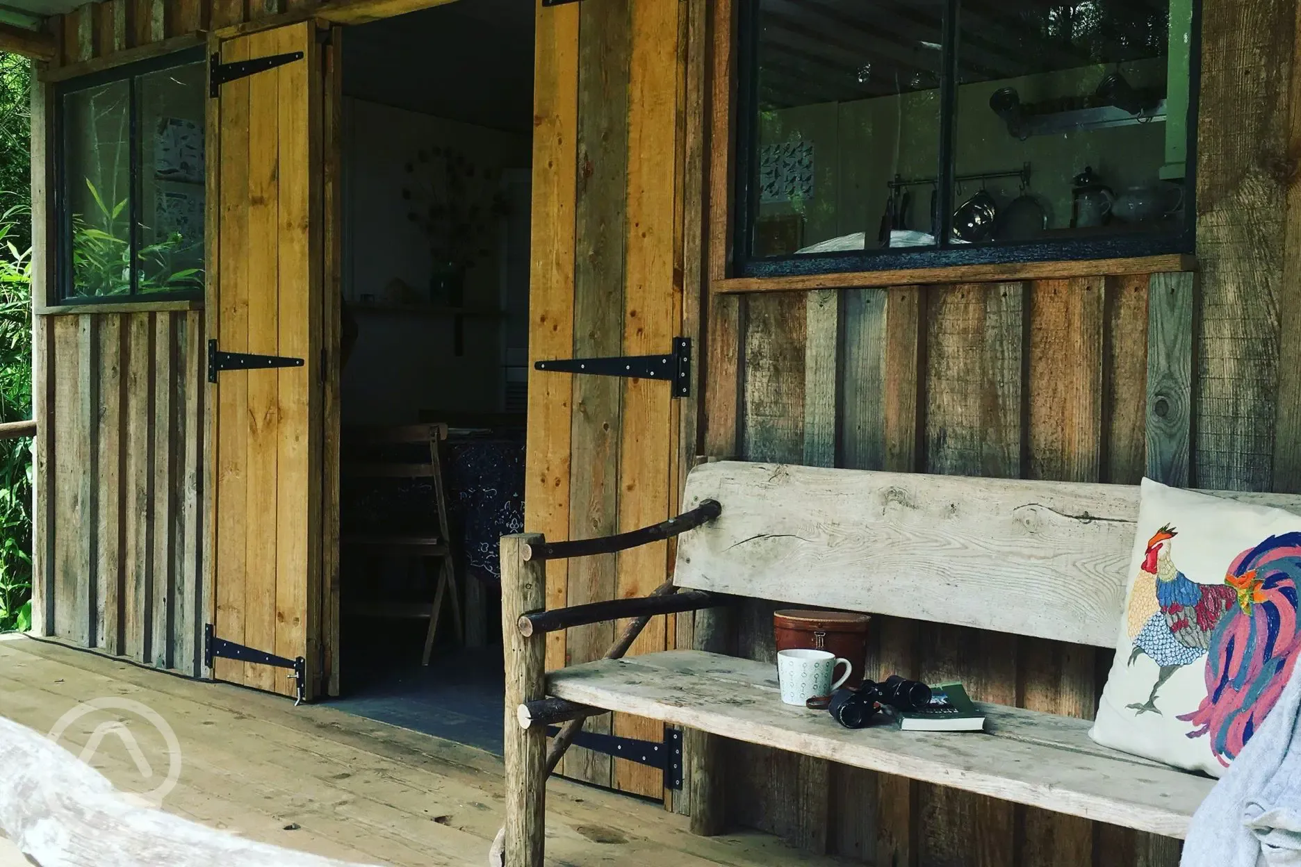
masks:
[[[183,757],[164,809],[252,840],[362,863],[487,863],[502,822],[501,760],[472,747],[325,706],[146,671],[83,651],[0,637],[0,715],[42,733],[78,703],[142,702],[174,729]],[[61,742],[79,753],[96,727],[121,720],[151,768],[167,746],[141,718],[95,711]],[[151,790],[122,738],[103,738],[91,764],[120,789]],[[744,832],[693,837],[657,805],[553,780],[548,863],[571,867],[790,867],[846,863]],[[13,858],[0,840],[0,866]],[[22,863],[21,861],[14,863]]]

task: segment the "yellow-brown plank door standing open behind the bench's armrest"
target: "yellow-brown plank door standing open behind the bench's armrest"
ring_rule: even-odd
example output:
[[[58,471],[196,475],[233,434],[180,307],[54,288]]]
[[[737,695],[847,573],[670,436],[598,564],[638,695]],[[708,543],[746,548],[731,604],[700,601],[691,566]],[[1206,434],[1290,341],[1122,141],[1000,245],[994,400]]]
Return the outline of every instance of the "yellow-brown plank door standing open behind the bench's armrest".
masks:
[[[674,338],[692,337],[683,303],[684,8],[662,0],[537,8],[533,361],[667,355]],[[682,419],[693,417],[693,399],[664,380],[532,370],[526,528],[549,539],[592,538],[677,513],[683,455],[693,454]],[[665,542],[550,560],[548,607],[645,595],[671,563]],[[653,619],[631,655],[674,647],[675,627],[674,617]],[[561,668],[605,654],[614,624],[548,638],[548,668]],[[661,723],[626,714],[592,718],[584,731],[666,737]],[[602,737],[587,744],[606,753],[571,749],[565,776],[665,794],[662,770],[609,754],[643,750],[615,750],[618,742]]]

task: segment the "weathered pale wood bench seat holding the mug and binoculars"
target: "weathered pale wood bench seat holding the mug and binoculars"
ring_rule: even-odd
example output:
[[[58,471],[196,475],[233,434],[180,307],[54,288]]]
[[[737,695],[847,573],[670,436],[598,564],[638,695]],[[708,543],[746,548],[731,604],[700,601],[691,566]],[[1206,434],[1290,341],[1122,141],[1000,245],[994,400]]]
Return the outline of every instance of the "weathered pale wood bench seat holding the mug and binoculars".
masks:
[[[846,729],[783,705],[775,667],[675,650],[548,673],[548,694],[1167,837],[1215,780],[1098,746],[1089,723],[985,706],[986,733]]]

